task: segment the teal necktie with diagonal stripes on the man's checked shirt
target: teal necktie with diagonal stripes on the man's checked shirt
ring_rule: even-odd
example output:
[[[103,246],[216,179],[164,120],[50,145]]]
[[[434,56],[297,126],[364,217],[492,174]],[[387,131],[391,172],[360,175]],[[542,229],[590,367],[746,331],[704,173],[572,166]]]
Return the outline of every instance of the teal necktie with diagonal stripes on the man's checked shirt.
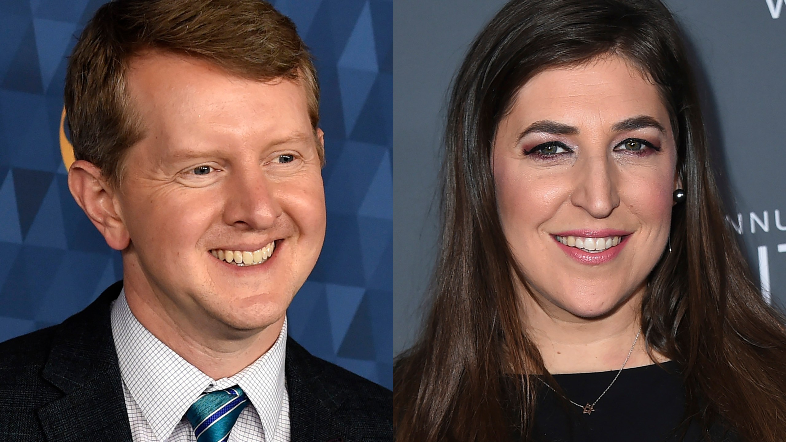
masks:
[[[226,442],[248,397],[237,385],[200,396],[185,412],[197,442]]]

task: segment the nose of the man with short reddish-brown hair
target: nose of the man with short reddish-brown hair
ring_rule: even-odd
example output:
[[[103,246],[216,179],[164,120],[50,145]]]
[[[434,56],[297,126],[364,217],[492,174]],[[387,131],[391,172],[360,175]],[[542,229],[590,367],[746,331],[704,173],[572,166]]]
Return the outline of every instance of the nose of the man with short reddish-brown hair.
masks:
[[[273,227],[282,212],[275,186],[263,171],[242,171],[233,175],[226,187],[225,222],[233,226],[246,225],[253,230]]]

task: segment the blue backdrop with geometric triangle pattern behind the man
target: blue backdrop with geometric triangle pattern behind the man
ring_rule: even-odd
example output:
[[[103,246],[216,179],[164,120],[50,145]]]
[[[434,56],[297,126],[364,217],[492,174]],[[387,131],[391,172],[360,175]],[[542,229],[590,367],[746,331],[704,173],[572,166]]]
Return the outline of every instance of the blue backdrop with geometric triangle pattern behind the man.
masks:
[[[122,278],[68,191],[66,57],[105,0],[0,0],[0,341],[61,322]],[[392,1],[279,0],[321,84],[328,227],[288,311],[314,355],[392,387]]]

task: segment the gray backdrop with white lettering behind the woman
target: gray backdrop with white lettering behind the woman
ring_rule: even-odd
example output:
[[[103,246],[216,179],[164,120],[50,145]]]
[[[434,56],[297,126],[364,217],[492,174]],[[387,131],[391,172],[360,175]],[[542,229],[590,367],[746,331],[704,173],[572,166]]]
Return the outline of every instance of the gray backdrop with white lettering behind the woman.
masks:
[[[446,91],[501,0],[396,0],[393,348],[417,335],[435,260]],[[756,282],[786,304],[786,0],[667,0],[688,32],[729,218]],[[780,224],[776,223],[776,211]],[[740,224],[741,219],[741,224]]]

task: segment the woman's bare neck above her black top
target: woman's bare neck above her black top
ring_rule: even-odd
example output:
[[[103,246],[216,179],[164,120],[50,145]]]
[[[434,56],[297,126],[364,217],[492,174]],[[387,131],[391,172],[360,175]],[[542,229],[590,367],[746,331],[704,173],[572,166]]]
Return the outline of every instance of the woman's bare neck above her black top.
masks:
[[[571,315],[548,300],[529,294],[523,297],[528,336],[540,350],[551,374],[619,370],[625,366],[652,364],[641,336],[640,311],[643,290],[599,318]],[[631,348],[633,350],[631,351]],[[656,355],[658,362],[667,360]]]

